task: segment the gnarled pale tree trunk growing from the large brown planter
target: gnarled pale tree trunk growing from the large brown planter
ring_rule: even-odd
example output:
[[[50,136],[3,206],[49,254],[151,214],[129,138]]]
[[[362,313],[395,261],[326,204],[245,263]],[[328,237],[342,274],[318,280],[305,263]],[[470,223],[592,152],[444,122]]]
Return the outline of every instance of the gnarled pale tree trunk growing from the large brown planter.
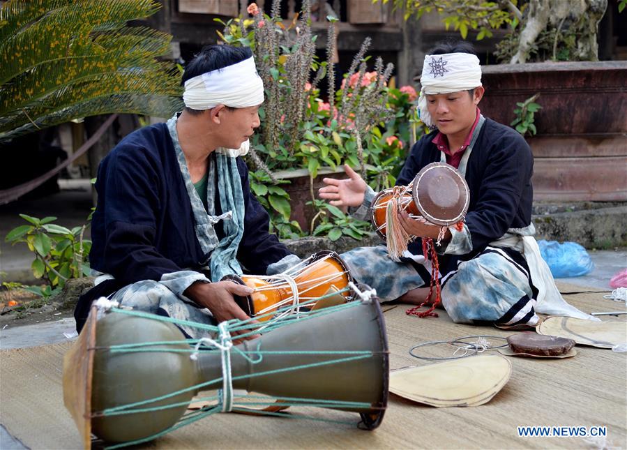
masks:
[[[596,33],[607,0],[531,0],[527,7],[524,28],[520,31],[518,51],[510,63],[524,63],[538,36],[547,27],[577,35],[575,59],[598,61]]]

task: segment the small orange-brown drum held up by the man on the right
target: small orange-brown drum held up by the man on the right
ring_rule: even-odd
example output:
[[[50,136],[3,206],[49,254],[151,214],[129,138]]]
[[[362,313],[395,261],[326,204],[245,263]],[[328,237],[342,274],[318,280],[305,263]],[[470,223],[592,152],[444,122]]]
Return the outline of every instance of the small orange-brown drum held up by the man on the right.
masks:
[[[373,200],[370,220],[384,239],[388,202],[395,195],[400,196],[400,205],[410,216],[441,226],[463,220],[470,202],[468,184],[455,167],[445,163],[426,165],[408,186],[382,190]]]

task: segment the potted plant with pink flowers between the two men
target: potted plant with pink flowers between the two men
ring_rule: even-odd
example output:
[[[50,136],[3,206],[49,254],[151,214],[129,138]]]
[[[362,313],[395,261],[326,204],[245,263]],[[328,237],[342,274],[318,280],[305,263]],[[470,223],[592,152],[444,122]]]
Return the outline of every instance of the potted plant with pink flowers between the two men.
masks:
[[[395,89],[390,84],[393,66],[384,66],[380,58],[368,71],[369,39],[335,89],[336,19],[327,17],[327,59],[320,61],[309,0],[303,0],[301,13],[288,23],[280,18],[279,0],[273,1],[271,15],[254,3],[248,13],[248,19],[222,22],[220,38],[252,48],[266,87],[262,124],[249,153],[255,168],[251,188],[271,211],[281,237],[309,232],[332,240],[342,235],[359,239],[370,231],[368,224],[316,200],[321,175],[344,177],[342,164],[349,163],[375,188],[391,185],[409,148],[416,91]],[[414,124],[419,133],[418,122]]]

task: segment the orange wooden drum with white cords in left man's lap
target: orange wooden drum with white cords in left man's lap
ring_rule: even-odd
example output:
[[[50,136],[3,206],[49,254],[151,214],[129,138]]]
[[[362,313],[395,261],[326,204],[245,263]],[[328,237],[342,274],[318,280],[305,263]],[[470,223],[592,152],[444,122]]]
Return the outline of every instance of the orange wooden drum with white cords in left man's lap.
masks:
[[[352,300],[348,291],[332,296],[332,299],[315,301],[319,297],[345,290],[349,281],[353,281],[340,255],[331,251],[315,253],[292,269],[277,275],[226,276],[222,279],[234,280],[255,290],[248,297],[235,297],[235,301],[246,314],[259,321],[271,319],[271,313],[279,308],[283,308],[284,314],[291,314],[301,309],[317,309],[323,305],[333,306]],[[285,310],[290,305],[293,308]]]

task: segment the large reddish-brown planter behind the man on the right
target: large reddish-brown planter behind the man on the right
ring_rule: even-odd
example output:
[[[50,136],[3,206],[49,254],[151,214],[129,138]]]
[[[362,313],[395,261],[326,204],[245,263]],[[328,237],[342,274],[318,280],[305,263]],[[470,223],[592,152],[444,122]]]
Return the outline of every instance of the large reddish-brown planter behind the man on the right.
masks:
[[[627,61],[485,66],[481,112],[509,124],[540,93],[534,200],[627,201]]]

